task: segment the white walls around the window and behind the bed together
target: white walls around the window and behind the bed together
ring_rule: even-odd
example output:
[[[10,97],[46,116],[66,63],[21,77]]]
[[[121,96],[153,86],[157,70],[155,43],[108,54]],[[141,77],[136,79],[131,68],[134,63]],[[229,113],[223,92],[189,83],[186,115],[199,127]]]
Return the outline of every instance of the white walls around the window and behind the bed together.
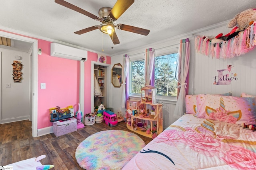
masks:
[[[139,47],[138,49],[131,49],[123,54],[115,55],[111,57],[111,65],[122,62],[123,55],[128,54],[132,57],[134,54],[145,53],[145,49],[154,48],[155,53],[159,53],[161,50],[173,48],[178,46],[180,39],[189,38],[190,40],[190,70],[189,70],[189,94],[221,94],[226,92],[232,92],[233,96],[240,96],[241,92],[245,92],[256,96],[256,50],[252,50],[245,55],[234,57],[233,59],[212,59],[210,57],[196,53],[194,47],[194,38],[196,35],[200,36],[216,36],[219,33],[223,35],[231,31],[226,28],[226,23],[219,23],[218,25],[211,25],[210,27],[195,30],[185,35],[178,35],[170,39],[163,40],[150,44],[147,47]],[[208,31],[205,31],[208,30]],[[196,35],[194,35],[196,34]],[[232,81],[230,85],[214,85],[214,76],[218,75],[217,70],[226,69],[227,65],[232,64],[232,72],[237,73],[238,80]],[[120,95],[121,88],[112,87],[109,93],[110,104],[114,110],[120,108]],[[132,100],[139,100],[139,98],[133,97]],[[164,129],[171,125],[175,119],[173,113],[176,105],[176,101],[170,99],[158,97],[158,102],[163,103],[163,119]],[[125,109],[123,109],[125,111]]]

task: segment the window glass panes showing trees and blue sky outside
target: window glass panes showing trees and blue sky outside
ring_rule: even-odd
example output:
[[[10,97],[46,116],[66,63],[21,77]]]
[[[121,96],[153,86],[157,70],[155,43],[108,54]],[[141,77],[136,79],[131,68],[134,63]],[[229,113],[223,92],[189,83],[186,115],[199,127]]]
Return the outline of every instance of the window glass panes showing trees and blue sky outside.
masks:
[[[154,86],[159,96],[177,96],[177,80],[175,79],[178,53],[155,57]],[[144,59],[131,61],[130,93],[140,94],[145,86]]]

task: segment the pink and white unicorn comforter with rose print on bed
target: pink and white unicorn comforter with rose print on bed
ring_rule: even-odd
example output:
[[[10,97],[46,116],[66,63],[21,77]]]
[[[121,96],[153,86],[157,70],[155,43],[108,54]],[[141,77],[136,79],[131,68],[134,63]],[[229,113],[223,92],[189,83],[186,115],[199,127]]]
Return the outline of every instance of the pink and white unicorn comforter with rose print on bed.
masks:
[[[254,170],[256,131],[186,114],[146,145],[123,170]]]

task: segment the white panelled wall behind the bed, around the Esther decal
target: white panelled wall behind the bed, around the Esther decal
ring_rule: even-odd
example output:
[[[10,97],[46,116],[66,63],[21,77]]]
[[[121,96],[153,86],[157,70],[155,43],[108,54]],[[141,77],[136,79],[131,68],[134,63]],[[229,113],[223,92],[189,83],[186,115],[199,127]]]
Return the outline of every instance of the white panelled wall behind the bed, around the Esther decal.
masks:
[[[218,27],[209,31],[200,33],[203,36],[216,36],[219,33],[225,35],[230,29],[225,26]],[[240,96],[241,92],[256,95],[256,50],[253,49],[245,55],[235,56],[232,59],[212,59],[200,53],[194,53],[194,74],[190,74],[190,80],[194,88],[189,89],[190,94],[221,94],[232,92],[232,96]],[[227,65],[232,64],[232,72],[237,74],[237,80],[231,81],[230,85],[214,85],[214,76],[217,76],[217,70],[227,69]],[[230,76],[232,76],[230,74]],[[192,87],[192,86],[191,86]]]

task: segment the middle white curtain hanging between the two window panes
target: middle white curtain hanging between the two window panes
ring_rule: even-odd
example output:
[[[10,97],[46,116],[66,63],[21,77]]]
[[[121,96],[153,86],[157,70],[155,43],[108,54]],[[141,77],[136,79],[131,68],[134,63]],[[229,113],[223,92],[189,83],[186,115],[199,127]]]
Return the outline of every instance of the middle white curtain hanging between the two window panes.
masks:
[[[145,84],[146,86],[150,85],[150,80],[152,77],[152,72],[154,68],[154,49],[146,49],[146,56],[145,56]]]

